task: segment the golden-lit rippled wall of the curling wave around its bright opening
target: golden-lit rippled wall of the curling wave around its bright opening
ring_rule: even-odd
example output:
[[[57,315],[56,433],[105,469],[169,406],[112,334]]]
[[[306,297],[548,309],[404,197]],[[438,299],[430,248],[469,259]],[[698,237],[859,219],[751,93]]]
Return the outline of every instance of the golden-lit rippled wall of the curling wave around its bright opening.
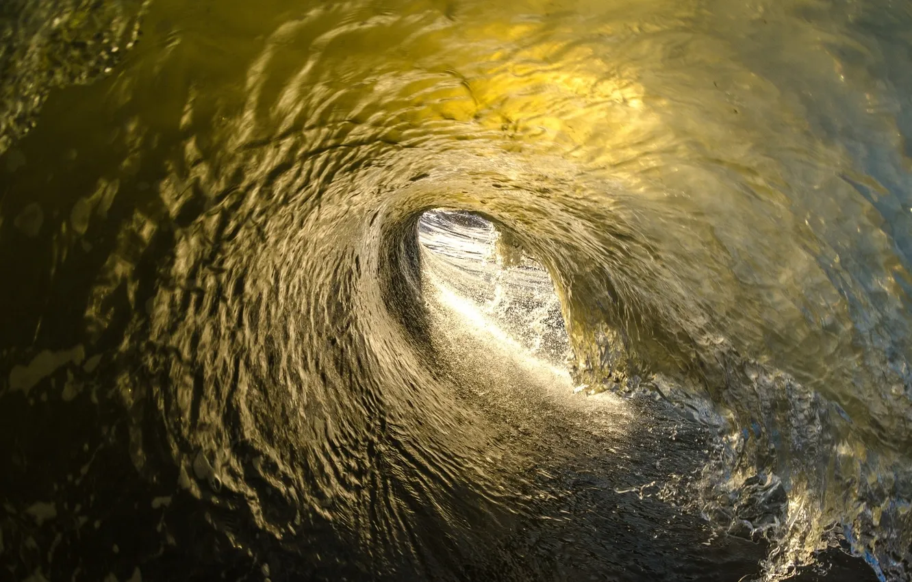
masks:
[[[105,426],[233,546],[265,531],[356,574],[458,571],[415,540],[440,530],[471,553],[488,539],[475,525],[509,530],[541,485],[523,476],[534,446],[496,421],[538,413],[504,388],[527,370],[454,348],[475,340],[428,291],[471,274],[422,255],[420,216],[477,213],[553,280],[554,325],[530,341],[565,330],[576,385],[659,394],[711,434],[682,504],[772,542],[769,577],[840,542],[907,577],[910,16],[562,7],[150,5],[124,66],[51,99],[5,153],[4,246],[40,243],[47,288],[77,267],[91,279],[79,317],[5,290],[26,309],[7,345],[49,333],[35,322],[84,328],[87,353],[117,362],[98,371],[125,404]],[[130,29],[106,22],[92,26]],[[47,78],[24,66],[16,79]],[[506,402],[472,391],[486,377]],[[547,426],[586,432],[554,406]]]

